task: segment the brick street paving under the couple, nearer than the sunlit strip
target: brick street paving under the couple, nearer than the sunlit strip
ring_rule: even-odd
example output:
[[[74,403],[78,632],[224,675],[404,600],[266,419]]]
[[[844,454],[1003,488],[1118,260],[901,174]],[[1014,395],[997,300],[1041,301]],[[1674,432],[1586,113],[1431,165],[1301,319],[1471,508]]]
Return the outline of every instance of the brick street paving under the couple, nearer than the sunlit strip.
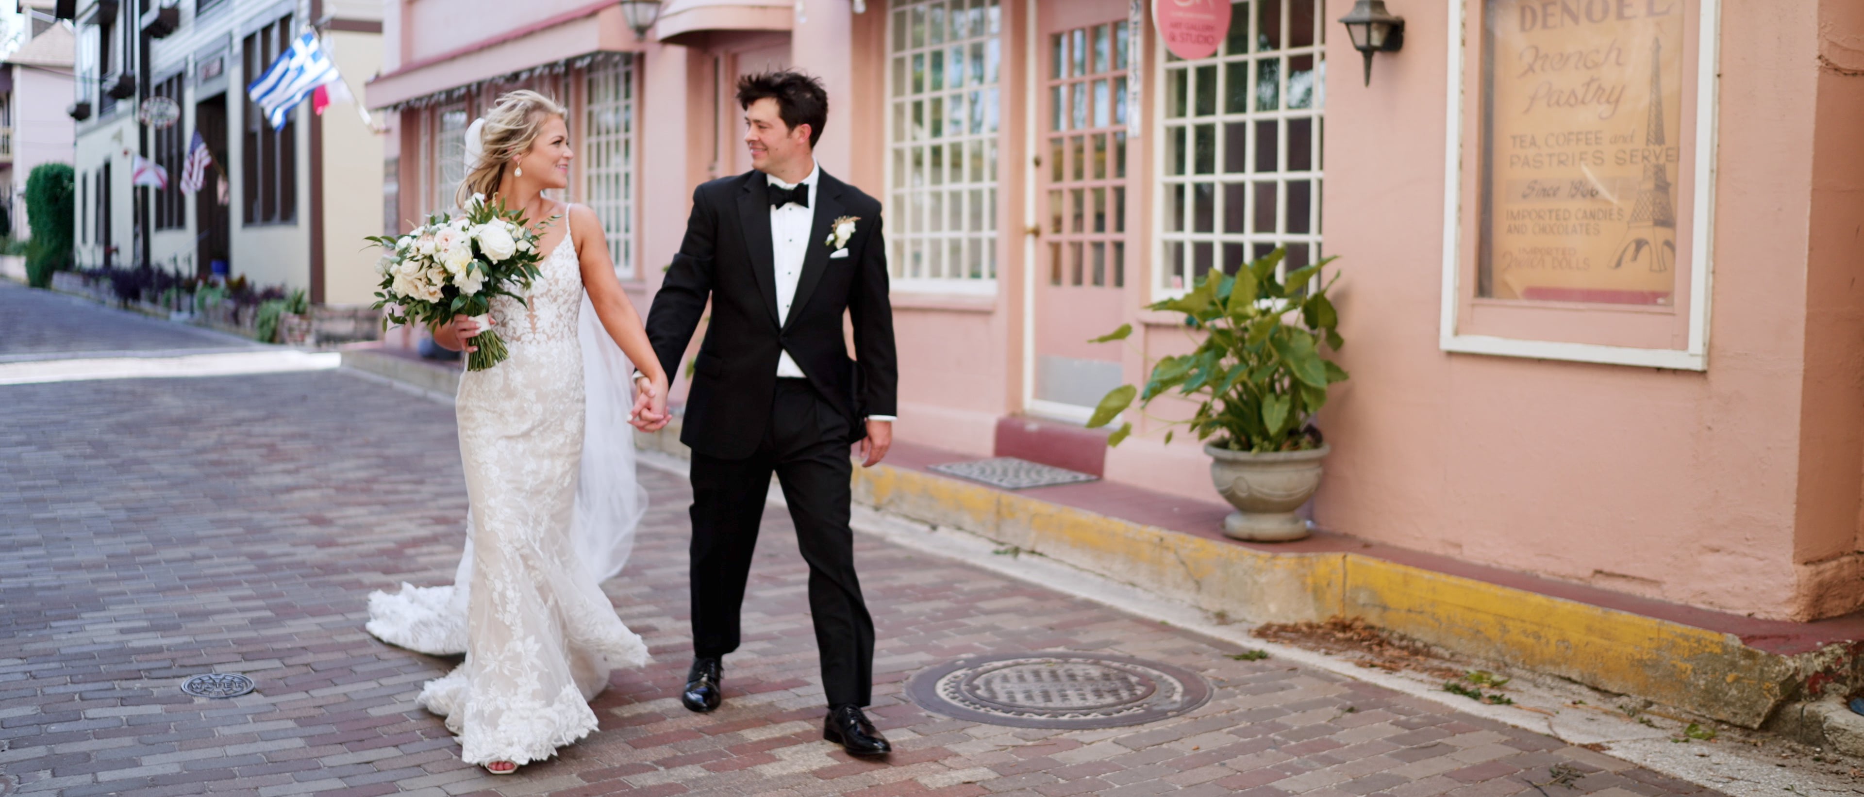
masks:
[[[617,672],[602,730],[492,778],[412,704],[451,659],[362,631],[369,588],[451,575],[466,508],[453,413],[341,372],[0,387],[0,793],[1515,795],[1713,793],[1616,758],[857,536],[891,762],[820,741],[805,568],[787,518],[746,601],[727,702],[677,702],[686,486],[654,495],[608,590],[658,661]],[[1096,650],[1204,674],[1191,715],[1122,730],[980,726],[902,682],[986,652]],[[248,672],[257,693],[179,683]]]

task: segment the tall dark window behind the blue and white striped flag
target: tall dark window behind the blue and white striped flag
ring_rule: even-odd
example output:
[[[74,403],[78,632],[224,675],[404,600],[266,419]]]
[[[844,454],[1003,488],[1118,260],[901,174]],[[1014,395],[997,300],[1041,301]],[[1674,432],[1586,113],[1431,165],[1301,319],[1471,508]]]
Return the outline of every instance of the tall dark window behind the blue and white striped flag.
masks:
[[[257,80],[265,69],[291,47],[291,15],[280,17],[252,32],[240,48],[248,80]],[[244,220],[246,223],[293,223],[298,218],[298,121],[293,112],[278,130],[267,121],[265,110],[246,99],[246,136],[240,147]]]

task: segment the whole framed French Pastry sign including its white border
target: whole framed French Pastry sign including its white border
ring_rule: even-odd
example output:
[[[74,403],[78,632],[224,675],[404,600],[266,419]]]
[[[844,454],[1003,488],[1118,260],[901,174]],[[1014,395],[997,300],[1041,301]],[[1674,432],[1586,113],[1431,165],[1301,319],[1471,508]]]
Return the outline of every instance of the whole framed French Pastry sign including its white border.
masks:
[[[1443,348],[1704,369],[1719,0],[1452,7]]]

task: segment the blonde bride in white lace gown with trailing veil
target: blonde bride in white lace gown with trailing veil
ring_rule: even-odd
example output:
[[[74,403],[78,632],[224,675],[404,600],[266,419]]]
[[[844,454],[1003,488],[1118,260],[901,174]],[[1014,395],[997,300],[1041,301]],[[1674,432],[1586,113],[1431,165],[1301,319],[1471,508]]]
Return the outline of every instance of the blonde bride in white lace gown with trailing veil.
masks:
[[[460,758],[494,775],[596,730],[589,700],[647,646],[600,583],[621,572],[645,510],[628,423],[665,413],[667,376],[615,279],[595,212],[546,197],[574,156],[563,106],[511,91],[466,130],[460,205],[485,194],[524,210],[544,259],[526,302],[492,300],[511,358],[460,378],[466,553],[451,587],[369,596],[369,633],[423,654],[466,654],[418,702],[445,717]],[[468,317],[434,341],[473,350]],[[637,397],[626,406],[639,363]]]

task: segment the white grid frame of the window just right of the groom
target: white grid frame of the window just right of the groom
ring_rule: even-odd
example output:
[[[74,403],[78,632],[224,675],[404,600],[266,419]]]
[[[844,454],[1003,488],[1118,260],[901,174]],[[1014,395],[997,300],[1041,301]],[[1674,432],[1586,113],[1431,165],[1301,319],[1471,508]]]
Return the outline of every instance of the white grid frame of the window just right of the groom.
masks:
[[[921,93],[895,95],[893,86],[895,86],[895,78],[897,78],[897,74],[895,74],[895,71],[897,71],[895,60],[897,58],[906,58],[910,61],[913,54],[925,54],[930,60],[932,52],[939,52],[939,50],[949,52],[951,47],[953,47],[951,41],[941,41],[939,45],[930,45],[928,43],[928,45],[921,45],[921,47],[911,47],[911,43],[908,43],[908,47],[904,50],[895,50],[893,37],[895,37],[898,15],[911,13],[913,7],[923,7],[928,2],[938,2],[939,6],[945,6],[945,2],[964,2],[967,7],[971,4],[977,4],[979,7],[984,9],[984,17],[986,19],[990,19],[990,11],[995,9],[995,20],[997,20],[997,30],[995,32],[988,32],[988,28],[986,28],[986,34],[982,34],[982,35],[973,34],[967,39],[960,39],[962,43],[966,43],[966,47],[969,47],[971,43],[982,43],[986,58],[988,58],[992,43],[995,45],[995,52],[997,52],[997,74],[995,74],[995,80],[982,82],[982,84],[973,84],[973,82],[967,80],[962,88],[945,86],[945,88],[936,89],[936,91],[934,89],[925,89]],[[995,292],[997,292],[997,279],[1001,277],[1001,272],[1003,272],[1003,266],[1005,266],[1003,264],[1003,255],[999,251],[999,235],[997,235],[999,233],[997,220],[1003,214],[1003,207],[1001,207],[1001,203],[1003,203],[1003,196],[1001,196],[1003,168],[1001,168],[999,160],[1003,158],[1003,151],[1005,151],[1003,149],[1003,102],[1005,102],[1003,101],[1003,74],[1005,74],[1003,4],[1005,4],[1005,0],[889,0],[887,2],[887,7],[885,7],[885,15],[887,15],[887,30],[885,30],[885,60],[887,60],[887,67],[885,67],[885,76],[884,76],[887,102],[885,102],[885,110],[884,110],[884,115],[885,115],[885,121],[884,121],[884,130],[885,130],[885,156],[884,156],[885,164],[884,164],[884,171],[885,171],[885,184],[887,184],[885,207],[889,209],[889,212],[885,214],[885,218],[887,218],[887,223],[891,227],[891,229],[887,229],[887,248],[889,248],[887,261],[889,261],[889,272],[891,272],[889,283],[891,283],[893,290],[897,290],[897,292],[969,294],[969,296],[995,296]],[[958,134],[958,136],[938,136],[938,138],[932,138],[932,140],[910,140],[910,142],[897,142],[895,140],[897,125],[895,125],[893,119],[895,119],[895,108],[897,106],[906,104],[910,108],[915,99],[930,101],[934,97],[956,97],[956,95],[967,95],[973,89],[979,91],[980,97],[992,97],[994,99],[994,106],[990,106],[990,108],[984,110],[982,132],[977,132],[977,134],[964,132],[964,134]],[[977,143],[984,145],[986,147],[986,151],[984,151],[984,181],[980,181],[980,182],[969,182],[969,181],[966,181],[966,182],[941,182],[938,186],[932,186],[932,184],[923,184],[923,186],[906,186],[906,184],[900,184],[900,181],[906,175],[898,175],[898,169],[895,168],[895,156],[897,156],[895,153],[902,153],[902,151],[910,153],[913,147],[926,147],[925,151],[930,153],[932,147],[926,145],[925,142],[939,142],[939,145],[949,145],[949,143],[966,143],[966,145],[969,145],[969,143],[977,142]],[[994,156],[992,156],[992,151],[994,151]],[[949,166],[947,166],[947,169],[949,169]],[[925,201],[921,205],[915,205],[911,201],[913,197],[930,197],[932,194],[943,194],[947,197],[958,197],[958,196],[966,196],[967,192],[982,192],[980,196],[984,197],[986,209],[982,212],[982,229],[980,231],[949,231],[949,229],[928,231],[928,229],[925,229],[925,227],[928,227],[928,223],[923,218],[915,218],[915,216],[930,216],[930,205],[932,203]],[[917,209],[925,209],[925,212],[919,214],[919,212],[915,212]],[[966,207],[966,210],[969,210],[969,205]],[[947,210],[947,218],[949,218],[949,210]],[[969,218],[969,212],[960,212],[960,218]],[[913,263],[910,261],[908,253],[911,251],[913,244],[926,242],[926,240],[936,242],[936,246],[947,246],[949,240],[960,240],[960,242],[967,244],[966,250],[969,248],[971,240],[979,242],[979,246],[977,246],[979,253],[980,253],[980,257],[986,263],[982,276],[979,276],[979,277],[969,276],[969,268],[964,268],[964,274],[951,276],[951,277],[947,277],[947,276],[938,276],[938,277],[928,277],[928,276],[915,277],[915,276],[911,276]],[[926,268],[930,268],[930,261],[932,259],[926,257]],[[943,268],[951,268],[951,266],[945,264]]]

